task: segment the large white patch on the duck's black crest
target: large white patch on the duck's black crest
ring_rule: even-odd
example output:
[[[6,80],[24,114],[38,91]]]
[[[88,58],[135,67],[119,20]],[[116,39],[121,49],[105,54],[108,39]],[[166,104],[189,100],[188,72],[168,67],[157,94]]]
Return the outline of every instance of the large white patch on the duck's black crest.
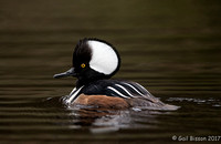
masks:
[[[101,73],[110,74],[118,65],[118,58],[116,52],[106,43],[99,41],[88,41],[92,49],[92,60],[90,66]]]

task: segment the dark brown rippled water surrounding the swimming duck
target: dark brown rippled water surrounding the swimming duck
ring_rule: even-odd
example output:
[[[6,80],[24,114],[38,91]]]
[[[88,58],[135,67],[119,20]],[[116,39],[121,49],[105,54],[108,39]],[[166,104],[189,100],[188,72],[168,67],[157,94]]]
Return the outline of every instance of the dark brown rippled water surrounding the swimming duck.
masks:
[[[221,135],[220,13],[215,0],[2,0],[1,143],[218,141],[208,136]],[[74,45],[85,37],[117,48],[123,63],[114,79],[136,81],[180,109],[109,113],[62,106],[57,99],[75,79],[52,76],[71,66]]]

